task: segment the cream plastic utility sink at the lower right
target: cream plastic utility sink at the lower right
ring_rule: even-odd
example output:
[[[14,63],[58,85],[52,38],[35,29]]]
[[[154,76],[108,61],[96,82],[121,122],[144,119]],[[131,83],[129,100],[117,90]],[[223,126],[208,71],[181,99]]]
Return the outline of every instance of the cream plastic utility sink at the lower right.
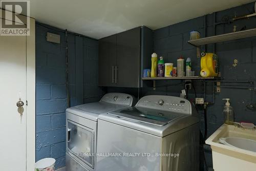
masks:
[[[223,124],[205,142],[211,146],[215,170],[255,170],[255,128],[245,129],[239,124]]]

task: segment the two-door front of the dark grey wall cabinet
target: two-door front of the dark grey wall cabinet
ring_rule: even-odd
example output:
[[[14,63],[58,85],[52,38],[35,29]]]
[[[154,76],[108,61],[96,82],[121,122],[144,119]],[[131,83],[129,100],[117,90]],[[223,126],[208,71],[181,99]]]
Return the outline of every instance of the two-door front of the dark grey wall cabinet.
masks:
[[[99,86],[140,87],[141,28],[99,40]]]

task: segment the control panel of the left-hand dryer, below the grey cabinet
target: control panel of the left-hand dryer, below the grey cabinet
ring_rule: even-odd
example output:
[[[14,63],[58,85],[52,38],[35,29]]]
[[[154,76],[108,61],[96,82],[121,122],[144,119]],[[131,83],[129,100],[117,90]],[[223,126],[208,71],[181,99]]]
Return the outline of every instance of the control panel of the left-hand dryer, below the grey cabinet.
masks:
[[[133,106],[136,102],[133,96],[124,93],[108,93],[100,101],[127,106]]]

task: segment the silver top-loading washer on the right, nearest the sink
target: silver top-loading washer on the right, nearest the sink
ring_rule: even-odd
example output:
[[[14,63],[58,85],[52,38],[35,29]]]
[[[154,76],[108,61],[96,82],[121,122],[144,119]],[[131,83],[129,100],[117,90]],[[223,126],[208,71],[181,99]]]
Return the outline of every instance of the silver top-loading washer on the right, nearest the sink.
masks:
[[[97,171],[199,170],[199,118],[188,100],[145,96],[98,118]]]

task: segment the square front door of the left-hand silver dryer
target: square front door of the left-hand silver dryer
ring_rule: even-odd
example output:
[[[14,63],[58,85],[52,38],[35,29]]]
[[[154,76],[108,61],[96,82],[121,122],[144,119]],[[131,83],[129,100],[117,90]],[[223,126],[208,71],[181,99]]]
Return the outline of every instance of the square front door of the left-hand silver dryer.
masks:
[[[67,148],[75,157],[94,168],[94,131],[68,120]]]

